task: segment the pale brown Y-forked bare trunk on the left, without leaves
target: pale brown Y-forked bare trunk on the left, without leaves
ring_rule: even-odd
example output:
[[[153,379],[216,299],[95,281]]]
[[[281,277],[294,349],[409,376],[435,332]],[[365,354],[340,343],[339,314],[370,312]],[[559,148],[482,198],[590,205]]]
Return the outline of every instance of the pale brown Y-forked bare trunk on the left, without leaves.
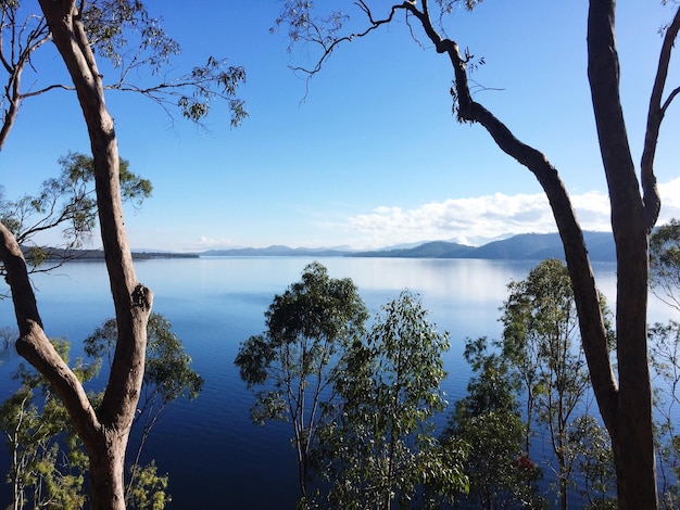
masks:
[[[21,248],[0,224],[0,258],[12,291],[20,339],[17,352],[50,382],[68,410],[90,461],[90,508],[125,509],[124,459],[139,399],[153,294],[137,282],[123,222],[118,150],[104,104],[101,76],[74,0],[40,0],[52,39],[74,81],[87,124],[97,205],[118,339],[102,404],[92,408],[80,382],[42,329]]]

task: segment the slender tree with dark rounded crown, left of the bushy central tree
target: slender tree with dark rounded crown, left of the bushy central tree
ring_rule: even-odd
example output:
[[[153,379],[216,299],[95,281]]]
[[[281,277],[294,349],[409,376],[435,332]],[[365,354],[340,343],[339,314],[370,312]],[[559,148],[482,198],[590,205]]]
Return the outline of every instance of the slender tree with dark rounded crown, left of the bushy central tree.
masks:
[[[276,295],[265,313],[266,331],[242,342],[235,364],[255,391],[255,423],[292,423],[298,477],[303,500],[312,474],[311,454],[336,397],[337,358],[364,332],[366,307],[351,279],[328,276],[319,263],[307,265],[302,279]]]

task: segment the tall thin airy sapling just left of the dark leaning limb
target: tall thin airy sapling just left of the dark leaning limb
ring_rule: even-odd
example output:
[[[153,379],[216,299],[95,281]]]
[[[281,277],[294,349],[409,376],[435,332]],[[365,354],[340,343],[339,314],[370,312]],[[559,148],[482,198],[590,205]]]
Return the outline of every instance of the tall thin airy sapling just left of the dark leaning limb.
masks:
[[[531,420],[547,428],[557,460],[559,500],[568,508],[567,488],[576,457],[570,425],[590,387],[583,349],[578,343],[578,316],[566,266],[547,259],[525,280],[508,284],[503,304],[503,355],[516,367],[527,393],[528,433]]]

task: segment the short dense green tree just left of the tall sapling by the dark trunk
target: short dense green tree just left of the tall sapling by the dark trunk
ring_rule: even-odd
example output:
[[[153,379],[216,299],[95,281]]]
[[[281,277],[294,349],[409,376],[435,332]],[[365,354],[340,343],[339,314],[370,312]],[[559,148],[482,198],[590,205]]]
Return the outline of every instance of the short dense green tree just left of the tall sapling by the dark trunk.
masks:
[[[458,400],[443,441],[469,445],[465,472],[469,494],[479,508],[542,508],[536,481],[541,470],[522,451],[525,424],[519,415],[519,381],[508,362],[488,352],[487,339],[468,339],[465,359],[473,368],[467,396]]]

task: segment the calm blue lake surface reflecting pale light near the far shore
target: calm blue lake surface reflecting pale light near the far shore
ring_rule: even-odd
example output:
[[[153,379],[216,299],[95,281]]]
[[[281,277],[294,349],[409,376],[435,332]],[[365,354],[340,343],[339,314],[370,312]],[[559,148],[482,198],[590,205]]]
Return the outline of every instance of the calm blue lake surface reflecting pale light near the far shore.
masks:
[[[319,258],[332,278],[351,278],[372,315],[404,289],[420,294],[429,319],[450,332],[444,355],[450,403],[465,393],[469,370],[462,353],[466,337],[501,333],[499,307],[506,284],[520,280],[537,262],[477,259]],[[264,329],[264,311],[275,294],[300,279],[312,258],[202,257],[144,260],[139,281],[155,294],[163,314],[205,379],[192,403],[172,405],[146,446],[160,472],[169,474],[171,508],[294,508],[298,499],[289,425],[253,425],[253,396],[234,366],[239,342]],[[595,266],[601,290],[615,304],[615,266]],[[72,342],[72,357],[96,327],[113,316],[103,263],[70,263],[52,275],[35,276],[38,305],[49,336]],[[651,299],[651,320],[666,320],[668,308]],[[15,329],[10,299],[0,302],[0,327]],[[8,354],[0,367],[0,398],[16,390],[9,374],[20,361]],[[441,418],[443,422],[445,417]],[[7,472],[7,449],[0,470]],[[0,486],[0,502],[9,499]]]

